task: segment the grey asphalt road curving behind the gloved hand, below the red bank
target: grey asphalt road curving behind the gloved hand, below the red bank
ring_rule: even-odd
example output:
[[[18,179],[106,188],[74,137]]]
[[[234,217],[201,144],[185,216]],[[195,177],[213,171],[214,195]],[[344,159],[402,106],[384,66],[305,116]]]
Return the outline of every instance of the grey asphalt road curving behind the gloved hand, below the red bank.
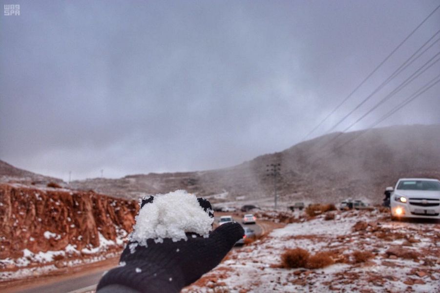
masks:
[[[218,222],[220,217],[215,217],[215,220]],[[261,234],[263,232],[262,228],[257,224],[246,224],[243,225],[241,223],[242,218],[233,217],[235,221],[240,223],[244,227],[249,227],[255,231],[255,234]],[[29,288],[22,291],[15,291],[21,293],[84,293],[90,290],[94,290],[96,285],[98,284],[101,276],[104,274],[106,270],[93,272],[90,274],[86,274],[83,276],[64,279],[63,281],[54,282],[38,287]]]

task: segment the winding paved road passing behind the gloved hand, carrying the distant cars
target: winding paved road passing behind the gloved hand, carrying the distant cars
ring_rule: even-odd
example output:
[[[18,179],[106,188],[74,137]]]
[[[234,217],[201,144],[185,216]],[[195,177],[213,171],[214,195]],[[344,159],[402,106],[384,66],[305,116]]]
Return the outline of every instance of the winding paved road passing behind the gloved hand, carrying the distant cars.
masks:
[[[227,213],[221,213],[222,215],[227,215]],[[218,221],[220,217],[215,217],[216,222]],[[233,216],[234,220],[241,224],[242,218],[239,216]],[[246,224],[242,226],[246,226],[251,228],[255,231],[255,234],[261,234],[264,232],[264,229],[262,226],[258,224]],[[26,285],[26,289],[16,288],[15,290],[13,288],[6,289],[4,292],[10,292],[10,293],[84,293],[89,292],[95,289],[96,285],[98,284],[99,280],[101,279],[101,276],[104,272],[106,272],[109,269],[108,266],[106,266],[103,270],[95,270],[94,272],[86,273],[80,276],[75,277],[64,277],[62,280],[51,282],[50,279],[47,279],[45,284],[42,284],[42,282],[38,282],[38,278],[35,280],[36,283],[33,285],[32,282],[28,283]]]

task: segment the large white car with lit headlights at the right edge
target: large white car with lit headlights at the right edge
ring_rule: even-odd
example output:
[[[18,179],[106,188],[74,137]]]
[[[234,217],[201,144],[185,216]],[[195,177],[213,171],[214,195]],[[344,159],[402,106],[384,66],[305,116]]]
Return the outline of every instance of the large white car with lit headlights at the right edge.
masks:
[[[440,219],[440,181],[401,178],[390,195],[390,202],[392,219]]]

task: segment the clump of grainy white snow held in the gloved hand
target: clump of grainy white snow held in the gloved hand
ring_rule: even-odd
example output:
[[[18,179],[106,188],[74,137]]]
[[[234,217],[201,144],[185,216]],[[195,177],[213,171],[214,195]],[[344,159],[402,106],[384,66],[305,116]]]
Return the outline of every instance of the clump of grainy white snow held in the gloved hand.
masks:
[[[158,194],[139,211],[130,240],[146,246],[147,239],[154,239],[156,243],[163,238],[188,240],[185,235],[188,232],[207,237],[213,221],[194,194],[185,190]]]

